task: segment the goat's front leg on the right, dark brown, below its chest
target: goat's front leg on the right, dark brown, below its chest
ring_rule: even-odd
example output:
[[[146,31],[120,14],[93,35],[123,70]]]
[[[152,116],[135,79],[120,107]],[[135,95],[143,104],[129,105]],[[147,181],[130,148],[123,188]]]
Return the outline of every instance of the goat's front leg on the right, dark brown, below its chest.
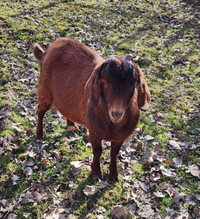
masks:
[[[118,170],[117,170],[117,158],[119,150],[123,142],[111,142],[110,151],[110,176],[114,180],[118,180]]]

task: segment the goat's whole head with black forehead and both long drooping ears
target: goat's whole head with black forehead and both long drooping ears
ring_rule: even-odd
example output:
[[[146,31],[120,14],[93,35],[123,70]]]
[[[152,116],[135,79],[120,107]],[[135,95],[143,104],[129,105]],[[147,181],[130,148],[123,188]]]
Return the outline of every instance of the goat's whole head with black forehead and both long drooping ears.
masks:
[[[120,122],[138,90],[138,106],[148,110],[150,93],[141,69],[133,62],[131,55],[111,57],[96,66],[86,84],[88,104],[98,106],[100,102],[107,106],[110,120]]]

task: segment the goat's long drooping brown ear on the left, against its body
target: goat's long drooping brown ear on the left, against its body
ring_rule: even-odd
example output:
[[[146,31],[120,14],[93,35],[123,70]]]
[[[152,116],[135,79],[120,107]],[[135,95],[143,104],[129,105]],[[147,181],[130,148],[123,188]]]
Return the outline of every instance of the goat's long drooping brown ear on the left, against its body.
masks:
[[[96,66],[85,85],[86,97],[90,107],[95,107],[99,104],[101,69],[101,65]]]

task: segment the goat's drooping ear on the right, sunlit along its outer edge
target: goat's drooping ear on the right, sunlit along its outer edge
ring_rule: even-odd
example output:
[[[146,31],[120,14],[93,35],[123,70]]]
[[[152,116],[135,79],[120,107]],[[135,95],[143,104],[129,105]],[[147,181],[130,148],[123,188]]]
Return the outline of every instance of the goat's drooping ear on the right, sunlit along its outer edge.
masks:
[[[138,107],[142,111],[147,111],[149,109],[149,102],[150,102],[150,92],[147,86],[147,83],[144,79],[144,75],[142,70],[137,66],[137,70],[139,73],[138,82],[137,82],[137,102]]]

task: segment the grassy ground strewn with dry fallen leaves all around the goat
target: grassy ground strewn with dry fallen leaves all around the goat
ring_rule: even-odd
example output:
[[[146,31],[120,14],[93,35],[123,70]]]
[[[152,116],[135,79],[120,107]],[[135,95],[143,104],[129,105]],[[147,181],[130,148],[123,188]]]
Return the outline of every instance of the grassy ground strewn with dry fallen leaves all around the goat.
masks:
[[[197,1],[0,2],[0,217],[200,217],[200,8]],[[33,44],[71,37],[104,58],[131,53],[151,107],[119,156],[119,182],[90,176],[87,130],[52,109],[36,140]],[[106,174],[109,144],[102,167]],[[121,216],[120,216],[121,214]]]

